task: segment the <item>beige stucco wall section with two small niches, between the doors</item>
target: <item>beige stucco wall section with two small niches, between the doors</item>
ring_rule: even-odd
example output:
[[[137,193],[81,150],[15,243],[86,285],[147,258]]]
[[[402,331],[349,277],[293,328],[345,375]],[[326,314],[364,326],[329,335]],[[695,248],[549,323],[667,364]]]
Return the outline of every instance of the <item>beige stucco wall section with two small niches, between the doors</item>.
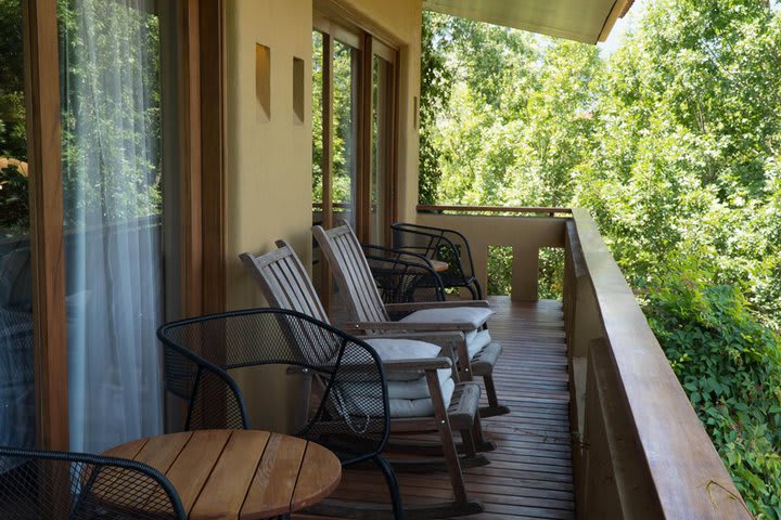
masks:
[[[265,304],[236,256],[284,238],[311,255],[311,0],[226,1],[227,307]],[[270,117],[256,94],[255,47],[270,60]],[[293,57],[305,61],[305,121],[293,112]],[[253,426],[290,430],[293,381],[277,368],[239,374]]]

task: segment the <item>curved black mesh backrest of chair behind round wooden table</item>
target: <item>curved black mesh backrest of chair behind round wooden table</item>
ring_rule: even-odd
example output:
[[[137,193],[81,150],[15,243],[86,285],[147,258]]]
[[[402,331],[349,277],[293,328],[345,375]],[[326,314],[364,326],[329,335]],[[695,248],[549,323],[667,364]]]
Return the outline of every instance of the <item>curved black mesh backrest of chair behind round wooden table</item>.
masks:
[[[161,327],[158,336],[167,350],[190,353],[191,361],[206,370],[230,373],[259,365],[307,368],[319,377],[324,390],[302,433],[346,453],[346,458],[368,458],[384,446],[389,415],[380,359],[367,343],[325,323],[294,311],[254,309],[175,322]],[[169,376],[166,367],[167,384]],[[176,385],[168,389],[174,393],[182,390]],[[225,391],[190,390],[193,400],[201,395],[209,401],[203,408],[210,410],[218,421],[239,412],[246,415],[238,389],[236,403],[226,400]],[[321,440],[327,433],[330,438]],[[333,445],[336,441],[338,446]]]

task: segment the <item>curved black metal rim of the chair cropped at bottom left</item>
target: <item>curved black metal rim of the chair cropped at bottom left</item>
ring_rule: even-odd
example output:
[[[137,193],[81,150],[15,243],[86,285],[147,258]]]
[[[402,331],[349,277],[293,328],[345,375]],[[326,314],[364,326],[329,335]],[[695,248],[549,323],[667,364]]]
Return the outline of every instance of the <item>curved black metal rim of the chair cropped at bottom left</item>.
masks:
[[[92,455],[88,453],[73,453],[73,452],[50,452],[43,450],[27,450],[16,447],[0,447],[0,457],[20,457],[27,460],[54,460],[71,464],[81,464],[85,466],[91,466],[92,470],[85,473],[86,480],[84,483],[85,487],[81,490],[81,494],[89,493],[92,485],[95,482],[100,482],[100,473],[105,469],[120,469],[127,473],[128,479],[117,479],[116,476],[112,474],[108,477],[108,484],[121,485],[123,482],[133,483],[138,486],[139,478],[132,478],[132,474],[138,474],[141,478],[152,480],[158,487],[157,491],[165,493],[166,497],[170,502],[171,511],[176,518],[187,520],[187,512],[182,506],[179,493],[177,493],[174,485],[170,483],[168,478],[159,472],[152,466],[136,460],[129,460],[127,458],[118,457],[105,457],[101,455]],[[72,469],[73,471],[73,469]],[[101,483],[101,485],[105,485]],[[149,490],[150,494],[154,490]],[[130,492],[138,492],[138,489],[131,490]],[[141,496],[141,495],[139,495]],[[145,504],[139,504],[144,506]]]

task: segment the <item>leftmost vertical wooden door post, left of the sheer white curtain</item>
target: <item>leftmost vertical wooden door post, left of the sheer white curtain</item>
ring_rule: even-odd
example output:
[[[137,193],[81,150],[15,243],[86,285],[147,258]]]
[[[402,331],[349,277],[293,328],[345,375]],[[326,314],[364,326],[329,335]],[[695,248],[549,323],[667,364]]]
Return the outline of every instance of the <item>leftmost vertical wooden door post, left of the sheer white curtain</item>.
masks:
[[[55,0],[22,2],[37,445],[69,447],[65,243]]]

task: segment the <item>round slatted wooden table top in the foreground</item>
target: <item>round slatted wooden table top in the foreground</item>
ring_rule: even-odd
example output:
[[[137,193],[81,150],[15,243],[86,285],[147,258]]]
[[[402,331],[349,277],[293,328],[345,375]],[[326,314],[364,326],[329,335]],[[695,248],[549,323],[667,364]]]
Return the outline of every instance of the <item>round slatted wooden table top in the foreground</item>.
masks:
[[[325,447],[263,430],[202,430],[139,439],[104,455],[158,469],[188,518],[258,519],[317,504],[342,478]]]

